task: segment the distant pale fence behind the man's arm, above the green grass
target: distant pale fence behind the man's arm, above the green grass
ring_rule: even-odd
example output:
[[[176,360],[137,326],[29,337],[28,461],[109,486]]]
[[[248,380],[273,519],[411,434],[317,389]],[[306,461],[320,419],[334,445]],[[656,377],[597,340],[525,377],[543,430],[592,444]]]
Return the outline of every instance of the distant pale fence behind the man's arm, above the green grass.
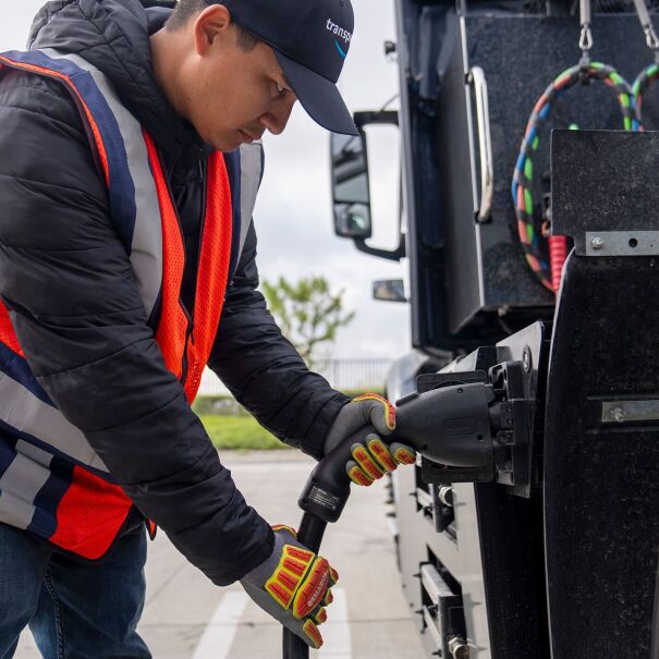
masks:
[[[392,359],[316,359],[312,370],[319,373],[339,391],[371,389],[382,390],[385,378]],[[223,395],[227,388],[215,376],[206,370],[199,388],[200,395]]]

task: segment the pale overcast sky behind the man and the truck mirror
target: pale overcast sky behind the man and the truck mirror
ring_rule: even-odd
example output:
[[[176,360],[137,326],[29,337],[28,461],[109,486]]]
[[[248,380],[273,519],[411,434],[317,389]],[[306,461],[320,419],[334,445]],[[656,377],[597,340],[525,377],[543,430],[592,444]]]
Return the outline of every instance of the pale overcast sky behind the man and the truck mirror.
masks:
[[[42,0],[0,0],[0,51],[24,47],[41,4]],[[396,65],[386,61],[382,48],[386,39],[395,36],[393,1],[353,0],[353,7],[355,35],[340,87],[351,110],[378,109],[398,90]],[[261,279],[284,276],[295,281],[324,274],[334,289],[345,290],[346,307],[356,317],[340,332],[333,356],[387,357],[406,352],[407,305],[376,302],[370,295],[374,279],[404,277],[406,265],[359,254],[351,241],[334,236],[328,134],[296,107],[283,135],[266,137],[265,148],[266,174],[254,213]],[[383,174],[391,171],[385,164],[389,156],[375,151],[370,156],[374,169]],[[385,216],[391,216],[395,199],[390,180],[391,175],[382,176],[379,186],[371,181],[376,187],[373,242],[388,246],[393,229]]]

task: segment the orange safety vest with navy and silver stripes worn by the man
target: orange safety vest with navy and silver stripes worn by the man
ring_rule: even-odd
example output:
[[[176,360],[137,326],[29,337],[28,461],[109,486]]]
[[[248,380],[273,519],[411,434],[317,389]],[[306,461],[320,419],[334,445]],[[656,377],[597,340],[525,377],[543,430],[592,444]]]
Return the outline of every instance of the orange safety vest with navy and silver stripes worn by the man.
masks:
[[[0,73],[3,68],[54,78],[76,101],[147,317],[160,305],[155,329],[164,364],[192,403],[217,333],[232,246],[236,260],[235,233],[241,233],[240,225],[233,225],[236,213],[232,212],[227,156],[216,151],[208,161],[191,318],[181,302],[185,247],[157,148],[123,107],[110,81],[78,56],[51,49],[0,54]],[[84,435],[34,378],[11,314],[0,303],[0,522],[97,559],[111,546],[131,507]]]

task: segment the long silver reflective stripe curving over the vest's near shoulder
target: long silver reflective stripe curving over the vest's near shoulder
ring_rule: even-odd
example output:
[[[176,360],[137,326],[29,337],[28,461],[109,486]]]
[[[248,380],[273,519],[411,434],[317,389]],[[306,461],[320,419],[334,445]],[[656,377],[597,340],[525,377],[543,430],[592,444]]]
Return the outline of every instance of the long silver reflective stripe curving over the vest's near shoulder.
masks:
[[[53,48],[42,48],[41,52],[53,60],[69,60],[88,71],[117,119],[126,149],[129,170],[135,185],[136,217],[131,245],[131,265],[148,318],[154,310],[162,284],[162,224],[158,193],[149,168],[142,126],[121,103],[108,76],[91,66],[89,62],[77,54],[60,52]]]

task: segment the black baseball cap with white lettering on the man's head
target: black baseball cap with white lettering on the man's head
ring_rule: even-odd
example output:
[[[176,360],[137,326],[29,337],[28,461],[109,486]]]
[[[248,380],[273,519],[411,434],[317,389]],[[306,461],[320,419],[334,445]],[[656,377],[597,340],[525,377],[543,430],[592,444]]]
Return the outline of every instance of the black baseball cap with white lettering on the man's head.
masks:
[[[357,135],[337,81],[350,50],[350,0],[221,0],[232,19],[274,51],[307,114],[333,133]]]

